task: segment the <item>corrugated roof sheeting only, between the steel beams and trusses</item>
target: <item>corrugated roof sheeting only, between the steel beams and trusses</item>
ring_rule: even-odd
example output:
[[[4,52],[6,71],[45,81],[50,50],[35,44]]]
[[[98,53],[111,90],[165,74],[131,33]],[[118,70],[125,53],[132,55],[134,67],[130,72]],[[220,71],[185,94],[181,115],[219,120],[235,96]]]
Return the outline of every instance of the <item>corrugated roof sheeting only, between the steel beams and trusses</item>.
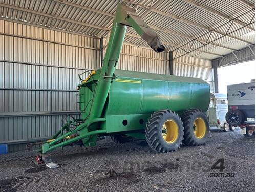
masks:
[[[234,18],[251,9],[248,5],[245,5],[240,1],[231,0],[193,0],[193,3],[205,6],[212,11],[204,10],[183,0],[165,0],[161,1],[161,3],[159,3],[159,1],[161,0],[154,1],[153,4],[152,0],[136,0],[135,2],[139,3],[137,8],[138,15],[144,14],[146,8],[154,6],[152,10],[148,11],[146,15],[143,16],[143,19],[148,25],[153,26],[153,28],[155,27],[154,30],[160,35],[163,41],[169,42],[170,45],[166,45],[167,50],[173,49],[172,46],[175,47],[175,45],[181,46],[189,40],[197,38],[209,30],[228,22],[228,19],[212,13],[212,11],[216,11],[217,13],[220,13],[227,18]],[[101,37],[106,35],[106,32],[111,28],[113,15],[115,14],[115,9],[119,1],[1,0],[0,2],[7,5],[16,6],[17,8],[24,8],[24,10],[15,10],[12,8],[1,7],[2,17],[23,20],[25,22],[38,25],[51,26],[61,30],[68,30],[71,32]],[[252,6],[255,6],[254,1],[246,0],[246,2]],[[29,12],[26,9],[36,12]],[[92,9],[95,11],[92,11]],[[38,14],[38,12],[41,14]],[[242,22],[249,23],[252,14],[254,14],[254,11],[244,14],[243,16],[239,17],[239,19]],[[255,17],[253,22],[255,22]],[[229,31],[234,31],[240,27],[242,27],[242,25],[233,23]],[[255,25],[250,25],[249,27],[255,29]],[[218,28],[217,31],[225,34],[228,28],[229,25],[226,24],[221,28]],[[235,37],[241,36],[242,40],[249,41],[254,44],[255,40],[253,37],[255,34],[252,36],[244,35],[250,33],[251,31],[251,29],[243,28],[242,30],[232,33],[232,35]],[[131,34],[136,34],[136,32],[132,29],[129,29],[128,32]],[[209,40],[217,38],[217,36],[220,37],[221,35],[219,33],[213,32]],[[201,39],[207,41],[208,36],[205,35]],[[138,46],[146,46],[136,37],[130,36],[126,38],[125,41],[136,44]],[[239,46],[236,47],[236,44],[233,45],[233,41],[235,41],[236,44],[239,44]],[[226,47],[231,47],[232,49],[241,48],[241,40],[233,40],[229,37],[221,38],[218,40],[218,44],[224,44]],[[207,48],[207,50],[212,54],[217,54],[216,50],[218,50],[218,54],[221,51],[223,51],[223,54],[227,52],[227,49],[219,46],[212,46],[212,49]],[[232,50],[229,51],[231,52]],[[216,58],[218,57],[218,54],[215,55]],[[194,55],[194,53],[189,55]],[[207,57],[205,54],[204,57],[209,59],[212,57],[212,55]]]

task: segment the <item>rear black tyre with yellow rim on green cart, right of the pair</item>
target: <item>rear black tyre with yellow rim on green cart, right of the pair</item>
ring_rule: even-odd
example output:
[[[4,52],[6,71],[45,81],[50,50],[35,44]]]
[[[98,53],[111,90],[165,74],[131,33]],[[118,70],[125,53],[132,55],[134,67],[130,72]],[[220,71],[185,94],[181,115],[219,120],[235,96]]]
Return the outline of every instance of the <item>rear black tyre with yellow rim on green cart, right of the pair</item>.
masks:
[[[188,110],[184,113],[184,140],[187,146],[197,146],[206,143],[209,136],[209,121],[201,110]]]

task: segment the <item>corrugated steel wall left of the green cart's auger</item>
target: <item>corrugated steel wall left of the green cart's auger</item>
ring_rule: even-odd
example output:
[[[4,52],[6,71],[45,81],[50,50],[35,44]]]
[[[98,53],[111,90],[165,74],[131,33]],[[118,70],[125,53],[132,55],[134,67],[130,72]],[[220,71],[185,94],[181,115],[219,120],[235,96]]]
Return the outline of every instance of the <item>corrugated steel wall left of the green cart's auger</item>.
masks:
[[[53,135],[78,112],[77,75],[99,67],[99,40],[0,20],[0,46],[0,142]]]

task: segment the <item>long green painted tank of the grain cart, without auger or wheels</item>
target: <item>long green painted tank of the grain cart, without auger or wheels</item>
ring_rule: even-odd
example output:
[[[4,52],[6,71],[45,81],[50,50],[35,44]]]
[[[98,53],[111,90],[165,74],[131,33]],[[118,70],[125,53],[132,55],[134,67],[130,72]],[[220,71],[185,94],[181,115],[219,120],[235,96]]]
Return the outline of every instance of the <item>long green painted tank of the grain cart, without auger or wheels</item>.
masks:
[[[90,112],[99,73],[79,85],[83,119]],[[144,129],[147,118],[159,109],[208,109],[210,88],[202,79],[126,70],[115,70],[114,76],[103,111],[106,121],[101,124],[108,133]]]

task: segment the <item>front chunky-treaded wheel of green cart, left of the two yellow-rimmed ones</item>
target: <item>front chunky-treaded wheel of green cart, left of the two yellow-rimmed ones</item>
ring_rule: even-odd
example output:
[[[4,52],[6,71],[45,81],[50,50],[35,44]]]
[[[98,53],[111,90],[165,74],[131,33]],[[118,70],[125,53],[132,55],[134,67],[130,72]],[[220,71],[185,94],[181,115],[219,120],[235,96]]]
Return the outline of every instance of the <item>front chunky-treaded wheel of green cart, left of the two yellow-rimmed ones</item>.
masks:
[[[181,118],[174,111],[159,110],[151,114],[145,128],[148,145],[156,152],[176,151],[183,140]]]

